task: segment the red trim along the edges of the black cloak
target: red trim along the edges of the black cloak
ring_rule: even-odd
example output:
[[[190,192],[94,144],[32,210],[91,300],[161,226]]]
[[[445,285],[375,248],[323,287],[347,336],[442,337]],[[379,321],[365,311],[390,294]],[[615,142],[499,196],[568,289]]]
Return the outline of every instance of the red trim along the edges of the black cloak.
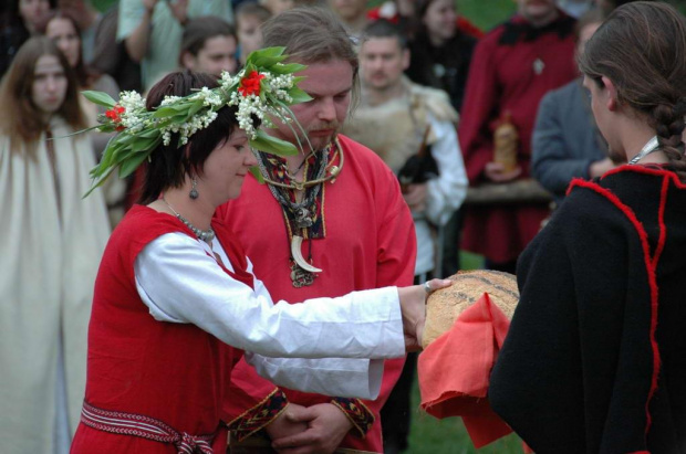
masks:
[[[620,169],[624,169],[624,167]],[[635,168],[635,169],[637,170],[638,168]],[[632,167],[631,169],[625,169],[625,170],[633,171],[634,168]],[[645,171],[645,170],[648,170],[648,171]],[[645,173],[655,172],[655,175],[667,173],[666,171],[652,170],[652,169],[645,169],[645,168],[643,168],[638,172],[645,172]],[[605,173],[605,176],[607,173]],[[675,173],[673,172],[668,172],[668,173],[674,175],[674,177],[676,178]],[[648,410],[648,405],[651,403],[651,399],[653,399],[653,394],[655,394],[655,390],[657,390],[657,374],[659,373],[659,362],[661,362],[659,349],[657,347],[657,341],[655,340],[655,329],[657,328],[657,282],[655,281],[655,266],[653,264],[653,261],[651,260],[651,247],[648,245],[648,237],[645,232],[645,229],[643,229],[643,225],[641,224],[641,222],[638,221],[638,219],[636,218],[632,209],[625,205],[624,203],[622,203],[622,201],[611,191],[609,191],[605,188],[600,187],[597,183],[578,178],[578,179],[572,180],[572,182],[570,183],[568,193],[574,187],[586,188],[589,190],[595,191],[600,196],[604,197],[610,202],[612,202],[615,207],[617,207],[624,213],[624,215],[628,219],[628,221],[631,221],[631,223],[634,225],[634,229],[636,230],[636,233],[638,233],[638,237],[641,239],[641,245],[643,247],[643,257],[644,257],[645,267],[648,274],[648,285],[651,287],[651,336],[649,338],[651,338],[651,347],[653,349],[653,377],[651,380],[651,390],[648,391],[648,397],[645,402],[645,415],[646,415],[645,433],[647,434],[648,430],[651,429],[651,423],[652,423],[652,418],[651,418],[651,412]],[[664,189],[665,189],[665,186],[663,186],[663,190]],[[663,203],[664,203],[664,197],[663,197],[663,200],[661,201],[661,208]],[[661,236],[662,236],[662,233],[661,233]]]

